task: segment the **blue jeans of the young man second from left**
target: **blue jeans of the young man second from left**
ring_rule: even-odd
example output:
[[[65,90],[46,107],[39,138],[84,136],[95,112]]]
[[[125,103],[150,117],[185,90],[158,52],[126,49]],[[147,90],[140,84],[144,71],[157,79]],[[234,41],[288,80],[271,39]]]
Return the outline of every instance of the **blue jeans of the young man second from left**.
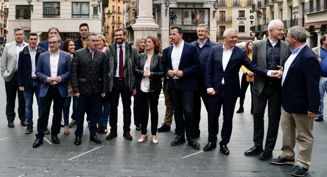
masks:
[[[38,115],[40,116],[40,83],[36,80],[31,80],[30,86],[28,90],[23,92],[26,102],[26,120],[27,124],[33,125],[33,95],[35,94],[37,107],[38,107]]]

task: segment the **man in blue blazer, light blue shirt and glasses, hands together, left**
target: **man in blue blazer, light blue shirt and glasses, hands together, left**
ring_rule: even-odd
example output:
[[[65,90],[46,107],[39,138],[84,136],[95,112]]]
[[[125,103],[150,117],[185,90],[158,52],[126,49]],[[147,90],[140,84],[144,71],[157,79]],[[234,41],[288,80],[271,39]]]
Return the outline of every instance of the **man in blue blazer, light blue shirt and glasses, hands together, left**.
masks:
[[[37,79],[41,82],[40,87],[40,116],[37,120],[37,134],[33,147],[39,147],[43,143],[44,131],[48,126],[51,103],[53,100],[53,119],[51,126],[51,140],[59,144],[60,118],[65,97],[68,95],[67,80],[71,76],[71,55],[59,49],[60,36],[49,37],[49,52],[40,54],[36,67]]]

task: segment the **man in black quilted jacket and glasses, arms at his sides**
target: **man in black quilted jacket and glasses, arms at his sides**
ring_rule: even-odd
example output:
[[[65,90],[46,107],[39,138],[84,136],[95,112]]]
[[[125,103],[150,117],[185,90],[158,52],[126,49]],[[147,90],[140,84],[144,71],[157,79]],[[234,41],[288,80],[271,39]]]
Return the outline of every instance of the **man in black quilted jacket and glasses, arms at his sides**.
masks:
[[[100,144],[97,137],[98,109],[101,96],[108,92],[108,65],[106,54],[97,49],[99,37],[95,33],[86,36],[87,47],[74,53],[72,62],[72,88],[77,96],[77,128],[75,145],[81,144],[85,111],[90,110],[90,140]]]

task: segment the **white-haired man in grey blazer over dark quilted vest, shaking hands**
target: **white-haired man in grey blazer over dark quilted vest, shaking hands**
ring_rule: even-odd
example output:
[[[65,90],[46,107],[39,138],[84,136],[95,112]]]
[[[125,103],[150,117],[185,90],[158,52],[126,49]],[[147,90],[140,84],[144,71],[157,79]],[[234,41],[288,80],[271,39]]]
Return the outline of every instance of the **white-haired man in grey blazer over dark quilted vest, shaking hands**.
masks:
[[[254,43],[252,61],[259,67],[278,70],[291,53],[287,43],[281,40],[284,36],[284,24],[281,20],[271,20],[268,25],[267,39]],[[254,146],[245,151],[245,156],[254,156],[260,153],[259,158],[268,160],[276,144],[279,121],[281,120],[281,80],[265,78],[255,74],[253,81],[253,121]],[[265,149],[264,114],[268,101],[268,130]]]

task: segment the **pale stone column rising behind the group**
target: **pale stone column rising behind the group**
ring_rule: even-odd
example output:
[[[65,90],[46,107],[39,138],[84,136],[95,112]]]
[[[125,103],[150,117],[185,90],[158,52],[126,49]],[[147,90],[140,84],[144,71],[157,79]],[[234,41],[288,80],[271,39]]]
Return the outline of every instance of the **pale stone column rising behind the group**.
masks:
[[[132,25],[134,40],[139,36],[157,36],[159,25],[155,24],[152,15],[152,1],[138,1],[138,16],[136,23]]]

